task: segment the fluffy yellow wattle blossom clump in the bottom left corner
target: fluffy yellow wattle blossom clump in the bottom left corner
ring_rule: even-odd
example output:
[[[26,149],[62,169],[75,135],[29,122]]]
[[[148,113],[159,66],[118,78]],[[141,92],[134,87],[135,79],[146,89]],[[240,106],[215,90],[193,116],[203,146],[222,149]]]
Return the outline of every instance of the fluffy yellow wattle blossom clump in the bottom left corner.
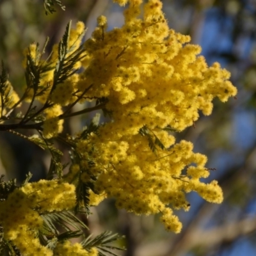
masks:
[[[73,209],[76,205],[76,188],[57,180],[40,180],[15,189],[0,202],[0,223],[4,239],[12,241],[24,256],[52,256],[42,246],[38,230],[44,223],[40,214]]]

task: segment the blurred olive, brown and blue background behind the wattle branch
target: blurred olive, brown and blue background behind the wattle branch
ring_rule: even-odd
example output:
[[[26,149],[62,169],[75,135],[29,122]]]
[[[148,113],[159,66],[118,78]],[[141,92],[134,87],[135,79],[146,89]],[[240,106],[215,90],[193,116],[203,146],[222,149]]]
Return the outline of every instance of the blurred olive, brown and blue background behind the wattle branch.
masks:
[[[68,20],[86,23],[86,38],[102,13],[109,29],[122,26],[122,8],[110,0],[63,0],[65,12],[45,15],[42,1],[0,1],[0,58],[10,81],[21,92],[24,86],[22,52],[32,42],[47,48],[60,40]],[[202,46],[209,65],[219,61],[232,73],[239,93],[221,104],[215,101],[211,116],[202,116],[195,127],[176,134],[195,144],[195,151],[209,157],[210,179],[218,179],[225,194],[221,205],[189,195],[191,210],[177,212],[184,223],[179,235],[169,234],[157,218],[133,216],[115,209],[114,200],[92,209],[88,222],[91,232],[113,230],[124,234],[125,256],[236,256],[255,255],[256,241],[256,1],[255,0],[163,0],[170,28],[191,35]],[[72,119],[67,131],[77,131],[86,118]],[[26,131],[27,132],[27,131]],[[0,172],[6,179],[45,177],[49,156],[35,145],[8,132],[0,134]],[[63,145],[60,145],[63,147]],[[65,147],[62,148],[65,152]],[[67,152],[63,161],[67,161]]]

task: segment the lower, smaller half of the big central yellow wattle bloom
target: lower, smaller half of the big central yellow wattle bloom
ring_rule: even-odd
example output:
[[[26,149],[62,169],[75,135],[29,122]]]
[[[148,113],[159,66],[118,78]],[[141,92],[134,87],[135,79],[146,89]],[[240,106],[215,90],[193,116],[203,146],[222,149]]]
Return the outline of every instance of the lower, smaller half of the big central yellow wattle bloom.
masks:
[[[154,133],[168,149],[159,149],[154,154],[148,147],[147,138],[141,134],[118,140],[115,131],[109,131],[109,136],[104,127],[100,131],[104,135],[92,134],[88,140],[79,141],[77,150],[84,159],[95,163],[90,168],[97,176],[95,191],[101,197],[116,198],[118,208],[135,214],[161,212],[166,229],[180,232],[182,225],[169,206],[188,211],[186,193],[196,191],[209,202],[222,202],[223,194],[216,180],[210,184],[200,181],[209,176],[205,168],[207,157],[194,153],[192,143],[174,144],[168,132],[156,130]],[[88,168],[88,164],[81,164],[84,169]],[[95,205],[95,200],[91,204]]]

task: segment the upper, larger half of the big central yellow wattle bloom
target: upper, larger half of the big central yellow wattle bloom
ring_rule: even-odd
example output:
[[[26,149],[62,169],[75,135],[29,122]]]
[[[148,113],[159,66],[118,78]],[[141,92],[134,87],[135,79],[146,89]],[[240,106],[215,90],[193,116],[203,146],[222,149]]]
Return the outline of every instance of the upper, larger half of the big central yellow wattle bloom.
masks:
[[[129,134],[143,125],[182,131],[198,119],[198,110],[211,114],[214,97],[236,95],[227,70],[218,63],[207,67],[197,56],[200,46],[168,28],[161,1],[144,4],[143,19],[137,18],[141,1],[130,2],[122,28],[99,26],[85,43],[91,61],[77,84],[81,92],[93,84],[88,97],[109,99],[118,127],[132,118],[129,123],[138,125]]]

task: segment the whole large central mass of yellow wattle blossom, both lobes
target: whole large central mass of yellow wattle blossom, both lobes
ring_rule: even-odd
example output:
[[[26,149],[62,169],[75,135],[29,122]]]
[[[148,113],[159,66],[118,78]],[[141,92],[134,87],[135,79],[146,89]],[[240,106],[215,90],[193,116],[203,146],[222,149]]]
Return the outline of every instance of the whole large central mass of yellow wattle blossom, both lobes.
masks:
[[[107,32],[106,19],[100,17],[85,43],[90,61],[77,88],[83,92],[93,84],[86,95],[108,99],[112,122],[79,141],[77,151],[95,163],[81,165],[97,177],[97,193],[115,197],[117,207],[136,214],[161,212],[166,229],[180,232],[169,205],[188,210],[185,194],[190,191],[218,204],[223,194],[216,180],[200,180],[209,175],[207,157],[194,153],[188,141],[175,144],[163,129],[184,130],[198,120],[198,111],[211,114],[214,97],[225,102],[237,90],[227,70],[218,63],[208,67],[198,56],[200,46],[168,28],[161,1],[144,4],[143,19],[138,18],[141,2],[129,1],[122,28]],[[148,136],[159,138],[164,149],[153,153]]]

